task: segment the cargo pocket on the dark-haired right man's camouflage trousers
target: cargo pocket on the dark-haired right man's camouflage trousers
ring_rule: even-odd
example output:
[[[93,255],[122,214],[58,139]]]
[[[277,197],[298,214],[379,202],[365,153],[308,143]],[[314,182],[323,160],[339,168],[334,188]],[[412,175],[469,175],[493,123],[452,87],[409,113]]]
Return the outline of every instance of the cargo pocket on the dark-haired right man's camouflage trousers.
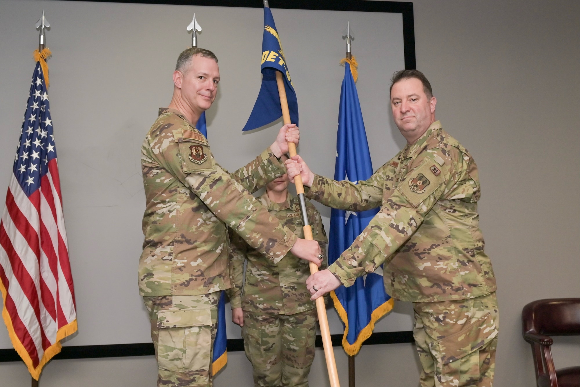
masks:
[[[437,352],[441,360],[441,384],[462,386],[463,379],[469,379],[470,376],[478,378],[478,351],[487,346],[497,334],[498,329],[494,318],[488,312],[466,325],[461,331],[438,341]]]

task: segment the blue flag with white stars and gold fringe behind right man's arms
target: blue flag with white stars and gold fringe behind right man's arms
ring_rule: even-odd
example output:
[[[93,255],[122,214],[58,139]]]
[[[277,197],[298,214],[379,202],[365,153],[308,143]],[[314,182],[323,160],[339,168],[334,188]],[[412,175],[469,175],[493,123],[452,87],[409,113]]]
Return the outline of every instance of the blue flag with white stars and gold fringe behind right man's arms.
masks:
[[[343,59],[345,79],[340,89],[340,109],[338,133],[336,135],[335,180],[367,180],[371,177],[372,163],[368,150],[367,134],[362,121],[350,66],[356,68],[356,59]],[[364,212],[350,212],[332,209],[328,243],[328,261],[331,264],[350,247],[369,221],[379,211],[378,208]],[[393,299],[385,293],[382,270],[357,278],[353,286],[340,286],[331,292],[334,306],[343,323],[345,334],[342,346],[345,352],[354,356],[362,342],[369,338],[375,322],[393,309]]]

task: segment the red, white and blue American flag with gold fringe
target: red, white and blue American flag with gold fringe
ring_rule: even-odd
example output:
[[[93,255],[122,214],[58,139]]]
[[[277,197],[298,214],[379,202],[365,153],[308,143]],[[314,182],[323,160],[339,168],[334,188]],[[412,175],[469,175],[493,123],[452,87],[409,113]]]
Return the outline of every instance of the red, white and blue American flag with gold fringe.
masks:
[[[44,364],[60,352],[60,340],[77,330],[55,137],[40,62],[12,170],[0,222],[2,316],[14,349],[38,379]]]

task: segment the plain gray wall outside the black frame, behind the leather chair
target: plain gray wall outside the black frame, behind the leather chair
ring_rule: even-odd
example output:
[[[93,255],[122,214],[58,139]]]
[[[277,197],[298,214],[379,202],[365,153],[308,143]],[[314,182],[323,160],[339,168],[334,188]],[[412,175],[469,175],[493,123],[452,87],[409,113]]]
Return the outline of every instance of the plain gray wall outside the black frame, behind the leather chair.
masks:
[[[481,226],[501,308],[495,385],[534,385],[530,347],[521,338],[521,308],[535,299],[580,296],[580,6],[529,0],[420,0],[414,6],[417,66],[433,85],[437,118],[470,150],[480,170]],[[387,107],[385,101],[361,104],[365,121],[370,106]],[[384,130],[367,123],[369,133]],[[376,157],[380,144],[372,146]],[[391,153],[384,153],[386,160]],[[416,385],[413,350],[363,347],[357,386]],[[335,353],[346,385],[346,358],[338,348]],[[554,357],[557,367],[578,365],[580,340],[557,340]],[[311,385],[325,385],[320,352],[315,361]],[[53,361],[41,383],[153,386],[154,367],[151,358]],[[230,354],[215,385],[251,385],[246,367],[243,354]],[[21,364],[0,364],[0,375],[7,385],[28,385]]]

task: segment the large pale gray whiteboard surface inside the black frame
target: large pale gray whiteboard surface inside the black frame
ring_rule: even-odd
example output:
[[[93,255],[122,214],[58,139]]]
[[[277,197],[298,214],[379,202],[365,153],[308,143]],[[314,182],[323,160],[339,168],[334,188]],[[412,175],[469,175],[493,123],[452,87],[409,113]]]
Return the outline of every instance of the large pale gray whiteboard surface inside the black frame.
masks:
[[[78,332],[65,345],[150,342],[137,288],[145,198],[140,146],[171,101],[177,56],[191,45],[193,13],[203,30],[198,45],[219,58],[222,80],[206,113],[216,159],[235,170],[274,141],[281,120],[242,134],[260,88],[263,10],[217,6],[0,0],[0,192],[8,188],[24,103],[38,47],[34,24],[45,10],[50,107],[64,203]],[[334,174],[342,31],[354,31],[358,95],[374,168],[405,144],[391,119],[389,78],[404,68],[401,13],[272,9],[298,96],[299,153],[314,171]],[[2,196],[3,198],[3,196]],[[316,203],[325,227],[330,210]],[[2,201],[3,206],[3,201]],[[228,338],[240,328],[228,313]],[[332,334],[343,328],[328,310]],[[0,324],[2,325],[2,324]],[[409,303],[375,331],[412,328]],[[11,348],[0,329],[0,349]]]

